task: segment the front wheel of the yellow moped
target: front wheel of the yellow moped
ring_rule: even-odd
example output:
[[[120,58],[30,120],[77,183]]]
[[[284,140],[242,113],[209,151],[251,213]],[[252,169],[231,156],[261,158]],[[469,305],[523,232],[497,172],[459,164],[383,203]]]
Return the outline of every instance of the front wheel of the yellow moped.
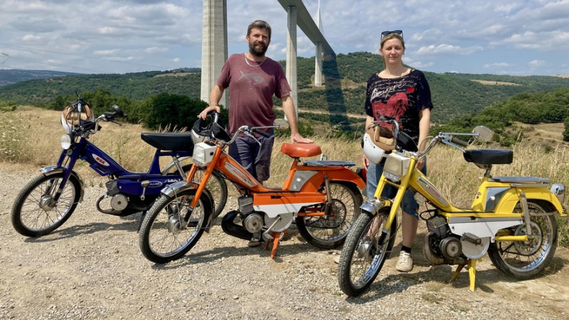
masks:
[[[346,238],[338,264],[338,282],[342,292],[349,297],[366,292],[389,258],[395,242],[397,221],[391,224],[383,245],[378,244],[388,214],[389,209],[383,209],[376,216],[362,211]]]

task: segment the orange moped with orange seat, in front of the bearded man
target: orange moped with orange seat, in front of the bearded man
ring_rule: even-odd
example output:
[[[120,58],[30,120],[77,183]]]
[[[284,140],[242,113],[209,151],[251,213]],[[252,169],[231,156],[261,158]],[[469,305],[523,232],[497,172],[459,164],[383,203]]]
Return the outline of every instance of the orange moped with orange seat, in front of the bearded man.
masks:
[[[213,175],[225,177],[240,192],[238,209],[223,216],[225,233],[252,243],[272,243],[271,258],[292,222],[299,234],[317,248],[337,248],[346,239],[362,203],[365,182],[349,169],[354,162],[307,160],[321,155],[315,143],[283,143],[281,152],[292,158],[282,188],[265,187],[228,155],[228,145],[241,134],[267,136],[270,127],[241,126],[230,136],[213,114],[206,138],[193,149],[193,165],[186,182],[171,184],[148,211],[142,222],[139,245],[154,263],[167,263],[184,256],[211,227],[213,201],[206,184]],[[258,141],[257,141],[258,142]],[[203,170],[201,180],[194,180]]]

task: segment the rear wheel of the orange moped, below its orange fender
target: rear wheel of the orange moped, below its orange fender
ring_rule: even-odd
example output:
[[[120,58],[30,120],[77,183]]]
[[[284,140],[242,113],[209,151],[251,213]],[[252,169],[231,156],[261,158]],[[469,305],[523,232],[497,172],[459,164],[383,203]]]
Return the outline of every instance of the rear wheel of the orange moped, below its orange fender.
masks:
[[[338,248],[344,244],[363,201],[354,184],[330,182],[330,191],[333,199],[330,216],[299,216],[296,219],[302,238],[321,249]]]

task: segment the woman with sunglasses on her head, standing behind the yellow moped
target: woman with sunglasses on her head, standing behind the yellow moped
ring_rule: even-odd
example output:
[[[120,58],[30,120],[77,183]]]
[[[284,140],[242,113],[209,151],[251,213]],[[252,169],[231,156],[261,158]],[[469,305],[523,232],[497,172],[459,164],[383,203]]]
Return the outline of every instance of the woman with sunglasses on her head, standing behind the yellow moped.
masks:
[[[374,120],[382,115],[395,117],[402,130],[418,145],[420,151],[425,148],[422,143],[429,133],[430,110],[432,109],[429,84],[425,75],[419,70],[403,65],[401,58],[405,54],[403,31],[385,31],[381,33],[379,53],[383,56],[385,69],[368,79],[366,93],[366,128],[373,126]],[[363,165],[368,167],[366,192],[368,199],[373,197],[378,180],[383,172],[385,158],[378,164],[371,163],[363,155]],[[425,158],[417,163],[417,167],[426,172]],[[390,185],[385,186],[383,197],[393,198],[397,190]],[[400,272],[413,270],[411,246],[417,234],[418,204],[413,192],[408,191],[403,197],[403,246],[395,269]]]

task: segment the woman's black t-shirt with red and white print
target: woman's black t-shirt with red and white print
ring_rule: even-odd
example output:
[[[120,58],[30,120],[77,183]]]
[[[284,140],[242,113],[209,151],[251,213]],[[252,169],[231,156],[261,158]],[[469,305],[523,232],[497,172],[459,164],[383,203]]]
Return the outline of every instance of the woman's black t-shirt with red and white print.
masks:
[[[368,79],[364,108],[376,121],[380,116],[395,118],[402,130],[418,143],[419,111],[432,109],[427,79],[419,70],[411,70],[408,75],[397,78],[372,75]]]

